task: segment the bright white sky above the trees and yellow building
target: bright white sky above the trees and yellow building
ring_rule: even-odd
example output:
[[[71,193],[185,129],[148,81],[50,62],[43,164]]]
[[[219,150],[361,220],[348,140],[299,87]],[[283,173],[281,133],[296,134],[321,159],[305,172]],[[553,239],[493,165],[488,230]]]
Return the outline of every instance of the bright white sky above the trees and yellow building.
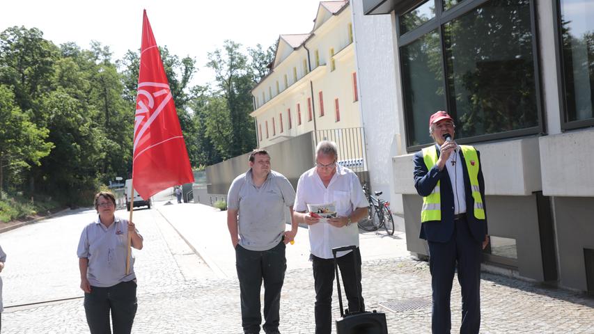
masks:
[[[224,40],[244,47],[272,45],[281,34],[308,33],[318,0],[19,0],[2,1],[0,31],[10,26],[38,28],[56,45],[76,42],[88,49],[91,40],[107,45],[119,59],[140,48],[142,11],[146,9],[159,46],[196,59],[192,84],[207,84],[213,74],[207,54]]]

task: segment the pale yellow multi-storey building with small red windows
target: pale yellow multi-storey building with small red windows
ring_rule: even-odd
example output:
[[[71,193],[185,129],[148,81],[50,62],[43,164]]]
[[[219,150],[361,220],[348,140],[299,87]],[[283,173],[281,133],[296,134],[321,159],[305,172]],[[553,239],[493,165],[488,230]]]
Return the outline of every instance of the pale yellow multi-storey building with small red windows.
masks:
[[[322,1],[310,33],[280,35],[252,90],[258,147],[306,132],[361,127],[348,1]]]

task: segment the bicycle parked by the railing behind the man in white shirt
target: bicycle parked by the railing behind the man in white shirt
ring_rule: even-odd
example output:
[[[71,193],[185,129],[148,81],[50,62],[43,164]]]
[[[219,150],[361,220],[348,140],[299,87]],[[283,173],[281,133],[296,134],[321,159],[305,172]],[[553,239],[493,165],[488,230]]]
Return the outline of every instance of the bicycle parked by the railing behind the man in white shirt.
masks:
[[[357,225],[364,231],[373,232],[380,228],[384,228],[389,235],[394,234],[394,218],[392,210],[390,209],[390,202],[384,201],[380,198],[382,191],[374,191],[375,196],[371,196],[367,184],[363,184],[363,191],[369,201],[368,217],[359,221]]]

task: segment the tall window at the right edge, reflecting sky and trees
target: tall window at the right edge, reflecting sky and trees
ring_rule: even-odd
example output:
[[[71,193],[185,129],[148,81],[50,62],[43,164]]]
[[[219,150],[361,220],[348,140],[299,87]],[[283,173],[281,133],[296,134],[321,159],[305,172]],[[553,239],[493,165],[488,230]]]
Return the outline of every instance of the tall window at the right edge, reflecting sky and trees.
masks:
[[[594,125],[594,3],[560,0],[563,127]]]

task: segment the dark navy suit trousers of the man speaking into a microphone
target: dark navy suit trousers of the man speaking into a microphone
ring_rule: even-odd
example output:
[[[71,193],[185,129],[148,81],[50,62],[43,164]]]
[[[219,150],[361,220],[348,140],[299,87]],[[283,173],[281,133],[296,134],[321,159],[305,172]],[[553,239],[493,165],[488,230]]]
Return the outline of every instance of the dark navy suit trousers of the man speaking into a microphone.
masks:
[[[462,290],[460,333],[478,333],[482,245],[470,234],[466,218],[455,221],[455,232],[449,241],[430,241],[429,255],[433,289],[432,333],[450,333],[450,296],[455,269],[458,269]]]

